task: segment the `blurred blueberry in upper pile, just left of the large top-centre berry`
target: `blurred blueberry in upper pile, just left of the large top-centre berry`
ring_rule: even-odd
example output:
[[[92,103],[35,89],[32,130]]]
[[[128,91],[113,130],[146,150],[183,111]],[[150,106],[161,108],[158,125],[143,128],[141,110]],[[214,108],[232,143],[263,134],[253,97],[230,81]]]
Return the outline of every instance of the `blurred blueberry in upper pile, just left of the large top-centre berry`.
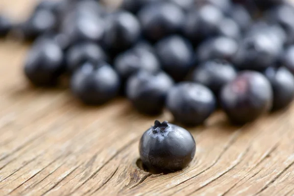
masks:
[[[112,53],[129,49],[140,38],[140,23],[129,12],[115,12],[107,17],[105,24],[103,44]]]

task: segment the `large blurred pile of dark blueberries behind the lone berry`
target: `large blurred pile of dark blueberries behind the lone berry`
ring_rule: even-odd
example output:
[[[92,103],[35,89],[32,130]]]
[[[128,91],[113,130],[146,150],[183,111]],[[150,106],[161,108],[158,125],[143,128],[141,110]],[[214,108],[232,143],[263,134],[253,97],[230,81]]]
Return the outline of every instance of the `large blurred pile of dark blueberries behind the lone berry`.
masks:
[[[141,113],[168,109],[198,125],[220,106],[233,123],[294,99],[294,7],[284,0],[41,0],[0,35],[32,40],[25,75],[36,86],[69,76],[73,95],[124,95]]]

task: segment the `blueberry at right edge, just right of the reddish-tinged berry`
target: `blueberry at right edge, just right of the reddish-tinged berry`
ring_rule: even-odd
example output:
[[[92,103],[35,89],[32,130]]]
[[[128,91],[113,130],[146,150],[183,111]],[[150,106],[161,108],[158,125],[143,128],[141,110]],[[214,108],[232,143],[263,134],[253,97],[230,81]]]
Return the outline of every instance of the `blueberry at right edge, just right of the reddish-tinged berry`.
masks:
[[[270,67],[265,71],[273,90],[273,110],[286,108],[294,99],[294,76],[287,68]]]

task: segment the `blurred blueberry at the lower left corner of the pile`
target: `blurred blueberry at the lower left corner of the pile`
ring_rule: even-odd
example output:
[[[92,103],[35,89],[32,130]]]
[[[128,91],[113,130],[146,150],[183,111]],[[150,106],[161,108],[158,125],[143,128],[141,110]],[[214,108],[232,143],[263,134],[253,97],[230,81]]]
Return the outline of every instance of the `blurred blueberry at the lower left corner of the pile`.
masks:
[[[63,52],[53,41],[39,40],[28,52],[25,75],[36,86],[55,85],[64,69]]]

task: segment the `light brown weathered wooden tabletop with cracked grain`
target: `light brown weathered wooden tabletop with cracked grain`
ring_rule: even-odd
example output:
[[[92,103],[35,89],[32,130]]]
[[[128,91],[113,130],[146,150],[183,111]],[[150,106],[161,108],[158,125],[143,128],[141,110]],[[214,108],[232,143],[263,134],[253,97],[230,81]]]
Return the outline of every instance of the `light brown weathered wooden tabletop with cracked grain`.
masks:
[[[32,4],[1,0],[0,8],[22,18]],[[149,174],[136,166],[138,141],[155,119],[124,99],[93,108],[66,89],[30,88],[27,49],[0,41],[0,196],[294,195],[294,107],[243,127],[217,112],[190,129],[197,143],[190,167]]]

